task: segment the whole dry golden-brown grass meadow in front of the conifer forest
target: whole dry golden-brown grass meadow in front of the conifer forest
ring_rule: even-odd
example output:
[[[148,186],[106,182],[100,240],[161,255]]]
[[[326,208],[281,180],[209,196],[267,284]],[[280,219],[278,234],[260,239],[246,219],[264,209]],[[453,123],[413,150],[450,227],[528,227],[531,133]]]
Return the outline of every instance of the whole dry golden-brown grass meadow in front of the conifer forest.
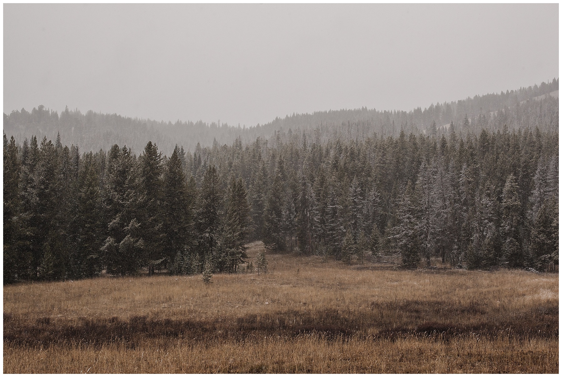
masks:
[[[558,274],[268,261],[5,286],[3,371],[558,373]]]

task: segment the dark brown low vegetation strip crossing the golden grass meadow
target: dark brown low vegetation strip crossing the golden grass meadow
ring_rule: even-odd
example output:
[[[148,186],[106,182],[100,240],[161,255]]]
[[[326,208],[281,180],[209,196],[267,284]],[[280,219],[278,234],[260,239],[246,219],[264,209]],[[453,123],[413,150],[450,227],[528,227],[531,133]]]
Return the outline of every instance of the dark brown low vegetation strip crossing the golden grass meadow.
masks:
[[[400,325],[395,325],[400,324]],[[280,311],[209,320],[171,320],[134,316],[130,319],[43,317],[24,319],[4,314],[4,341],[45,345],[71,342],[138,344],[144,338],[183,338],[198,342],[209,339],[242,340],[257,336],[316,333],[333,337],[378,337],[395,339],[406,334],[439,336],[464,334],[494,337],[558,337],[558,303],[521,312],[494,312],[472,302],[455,306],[448,302],[401,301],[371,303],[368,311]]]

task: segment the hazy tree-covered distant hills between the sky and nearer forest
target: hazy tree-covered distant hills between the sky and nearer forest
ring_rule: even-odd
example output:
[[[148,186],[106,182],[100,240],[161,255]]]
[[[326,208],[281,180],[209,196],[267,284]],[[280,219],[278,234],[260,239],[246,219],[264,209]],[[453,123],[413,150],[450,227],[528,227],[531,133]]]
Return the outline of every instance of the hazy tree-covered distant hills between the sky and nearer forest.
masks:
[[[532,99],[532,101],[529,101]],[[176,144],[193,152],[201,146],[232,144],[239,139],[251,143],[257,137],[284,138],[291,133],[314,136],[317,143],[328,139],[365,139],[373,133],[384,137],[397,137],[401,129],[406,134],[420,133],[441,135],[454,122],[456,133],[473,131],[478,133],[486,128],[501,130],[538,127],[541,131],[558,130],[558,80],[542,83],[540,86],[508,90],[500,94],[486,94],[464,100],[432,105],[422,110],[377,111],[360,108],[355,110],[318,111],[312,114],[293,114],[276,118],[264,125],[250,128],[233,127],[227,124],[210,125],[198,122],[172,122],[132,119],[116,114],[102,114],[66,109],[60,115],[43,106],[4,114],[4,133],[13,135],[22,143],[30,135],[39,139],[46,136],[54,140],[61,134],[61,142],[79,146],[81,151],[99,151],[111,148],[114,143],[126,145],[134,154],[140,154],[151,140],[162,152],[170,155]]]

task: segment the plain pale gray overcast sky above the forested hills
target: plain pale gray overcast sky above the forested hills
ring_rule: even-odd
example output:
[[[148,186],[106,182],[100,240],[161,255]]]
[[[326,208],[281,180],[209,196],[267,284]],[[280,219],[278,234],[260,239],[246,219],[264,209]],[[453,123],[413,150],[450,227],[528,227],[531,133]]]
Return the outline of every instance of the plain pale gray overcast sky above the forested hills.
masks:
[[[4,4],[4,112],[256,125],[558,77],[558,4]]]

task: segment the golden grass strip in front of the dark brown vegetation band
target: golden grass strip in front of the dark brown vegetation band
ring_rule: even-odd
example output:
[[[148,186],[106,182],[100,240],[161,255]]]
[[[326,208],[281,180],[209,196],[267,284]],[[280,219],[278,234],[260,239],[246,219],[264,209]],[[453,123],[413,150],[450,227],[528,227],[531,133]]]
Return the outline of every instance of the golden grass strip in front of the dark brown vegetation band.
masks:
[[[315,335],[166,347],[37,349],[4,343],[4,373],[557,373],[558,343],[477,336],[439,342],[327,340]]]

